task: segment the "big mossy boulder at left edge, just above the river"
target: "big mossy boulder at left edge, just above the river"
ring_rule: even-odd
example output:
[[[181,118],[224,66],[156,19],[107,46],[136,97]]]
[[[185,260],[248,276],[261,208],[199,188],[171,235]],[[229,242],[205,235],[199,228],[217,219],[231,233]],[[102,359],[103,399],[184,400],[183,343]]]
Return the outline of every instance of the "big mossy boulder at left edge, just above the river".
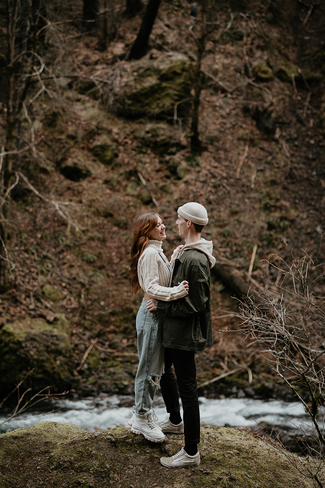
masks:
[[[28,319],[4,325],[0,350],[1,389],[13,388],[32,368],[33,389],[51,386],[52,391],[63,391],[75,383],[70,324],[63,314],[55,314],[51,324]]]

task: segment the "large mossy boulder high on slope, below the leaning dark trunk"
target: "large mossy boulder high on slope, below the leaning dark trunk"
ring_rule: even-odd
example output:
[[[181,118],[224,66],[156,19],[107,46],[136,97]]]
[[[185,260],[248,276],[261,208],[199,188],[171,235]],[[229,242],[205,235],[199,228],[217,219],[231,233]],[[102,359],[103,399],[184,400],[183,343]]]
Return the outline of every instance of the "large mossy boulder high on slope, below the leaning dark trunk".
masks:
[[[124,86],[125,102],[118,114],[135,118],[173,115],[175,102],[191,97],[191,73],[191,61],[178,53],[134,62],[133,80]],[[178,110],[184,107],[180,104]]]

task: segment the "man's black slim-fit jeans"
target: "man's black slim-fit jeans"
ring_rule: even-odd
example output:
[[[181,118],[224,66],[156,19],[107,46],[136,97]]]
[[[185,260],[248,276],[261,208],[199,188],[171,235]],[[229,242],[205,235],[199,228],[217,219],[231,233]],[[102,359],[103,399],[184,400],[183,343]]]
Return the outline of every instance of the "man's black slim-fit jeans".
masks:
[[[172,372],[172,364],[174,365],[177,384]],[[185,443],[199,444],[200,409],[197,397],[194,352],[165,347],[165,373],[160,379],[160,386],[168,413],[179,412],[179,391],[183,406]]]

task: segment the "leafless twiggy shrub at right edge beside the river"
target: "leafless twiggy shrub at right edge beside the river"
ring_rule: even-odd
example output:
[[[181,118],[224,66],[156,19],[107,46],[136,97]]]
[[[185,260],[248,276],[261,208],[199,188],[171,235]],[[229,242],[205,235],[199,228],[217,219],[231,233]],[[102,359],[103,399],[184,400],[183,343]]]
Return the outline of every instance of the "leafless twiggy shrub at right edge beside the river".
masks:
[[[261,354],[308,413],[312,425],[308,437],[312,443],[302,441],[307,456],[298,458],[299,461],[292,458],[290,462],[322,487],[319,473],[323,466],[325,428],[319,414],[320,411],[324,414],[325,297],[320,285],[325,265],[317,264],[318,254],[310,256],[304,252],[302,258],[296,259],[286,242],[284,245],[287,261],[276,255],[268,260],[276,270],[276,284],[269,282],[265,291],[256,291],[241,301],[240,328],[253,339],[252,344],[264,347]],[[300,429],[306,435],[306,429],[301,426]]]

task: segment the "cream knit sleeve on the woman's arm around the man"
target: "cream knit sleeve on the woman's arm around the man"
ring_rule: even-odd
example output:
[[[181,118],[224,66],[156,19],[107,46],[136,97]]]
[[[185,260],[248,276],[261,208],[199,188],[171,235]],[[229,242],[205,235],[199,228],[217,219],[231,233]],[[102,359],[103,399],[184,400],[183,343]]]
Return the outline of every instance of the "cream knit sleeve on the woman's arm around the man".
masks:
[[[182,298],[187,295],[183,283],[178,286],[168,288],[167,286],[159,285],[159,255],[156,251],[144,253],[138,263],[138,275],[141,278],[144,291],[151,297],[157,300],[164,300],[170,302],[177,298]],[[140,281],[140,280],[139,280]]]

